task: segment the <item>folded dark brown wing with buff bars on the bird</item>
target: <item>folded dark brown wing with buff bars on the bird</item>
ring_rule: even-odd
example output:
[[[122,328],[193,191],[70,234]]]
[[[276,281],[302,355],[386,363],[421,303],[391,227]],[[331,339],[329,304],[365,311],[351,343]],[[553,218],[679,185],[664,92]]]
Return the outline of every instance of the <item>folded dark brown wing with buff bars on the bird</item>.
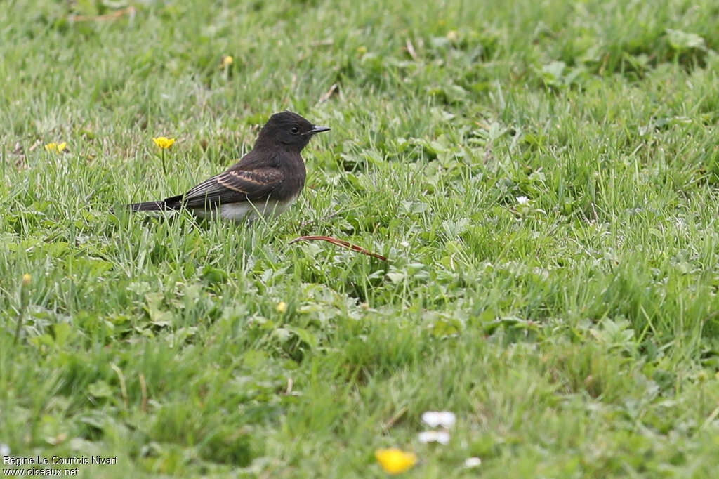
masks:
[[[277,168],[227,170],[185,193],[183,202],[188,207],[204,207],[237,201],[264,201],[283,179],[284,174]]]

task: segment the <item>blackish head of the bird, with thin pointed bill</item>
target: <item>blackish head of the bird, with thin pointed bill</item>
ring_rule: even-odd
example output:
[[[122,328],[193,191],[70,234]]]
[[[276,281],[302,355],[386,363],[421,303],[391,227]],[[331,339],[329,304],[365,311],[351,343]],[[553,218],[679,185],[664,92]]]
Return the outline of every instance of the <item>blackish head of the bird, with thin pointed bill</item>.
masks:
[[[328,131],[328,127],[317,127],[292,111],[275,113],[265,123],[257,137],[257,147],[285,147],[301,152],[314,134]]]

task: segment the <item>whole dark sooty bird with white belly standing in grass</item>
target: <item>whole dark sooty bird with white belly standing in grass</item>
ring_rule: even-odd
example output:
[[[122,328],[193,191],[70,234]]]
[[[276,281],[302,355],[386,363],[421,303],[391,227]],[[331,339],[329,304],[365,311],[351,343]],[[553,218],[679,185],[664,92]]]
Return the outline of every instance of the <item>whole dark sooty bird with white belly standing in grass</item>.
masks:
[[[224,173],[198,184],[183,195],[162,201],[129,204],[130,211],[186,208],[197,216],[256,219],[280,214],[305,186],[305,162],[300,152],[313,134],[326,132],[291,111],[273,114],[260,130],[255,147]]]

